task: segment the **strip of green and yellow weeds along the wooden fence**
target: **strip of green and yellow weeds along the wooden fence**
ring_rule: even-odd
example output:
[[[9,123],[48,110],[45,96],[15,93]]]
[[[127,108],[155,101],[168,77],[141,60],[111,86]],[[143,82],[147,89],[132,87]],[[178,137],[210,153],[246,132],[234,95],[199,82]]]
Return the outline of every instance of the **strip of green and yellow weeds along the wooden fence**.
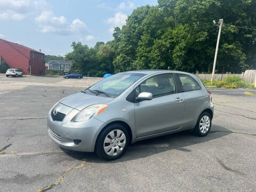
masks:
[[[213,81],[202,79],[204,86],[211,88],[226,88],[226,89],[237,89],[237,88],[249,88],[253,89],[254,84],[246,83],[241,80],[238,76],[226,77],[223,81]]]

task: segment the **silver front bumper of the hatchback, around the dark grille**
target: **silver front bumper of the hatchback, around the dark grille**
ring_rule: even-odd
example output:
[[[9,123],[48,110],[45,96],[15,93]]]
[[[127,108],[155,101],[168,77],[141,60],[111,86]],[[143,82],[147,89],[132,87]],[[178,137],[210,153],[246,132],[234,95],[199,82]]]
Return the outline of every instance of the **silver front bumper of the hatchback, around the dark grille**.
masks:
[[[79,111],[65,105],[61,105],[60,112],[67,113],[62,122],[53,121],[51,111],[47,116],[50,138],[57,145],[65,149],[93,152],[100,127],[103,123],[95,118],[85,122],[70,122]]]

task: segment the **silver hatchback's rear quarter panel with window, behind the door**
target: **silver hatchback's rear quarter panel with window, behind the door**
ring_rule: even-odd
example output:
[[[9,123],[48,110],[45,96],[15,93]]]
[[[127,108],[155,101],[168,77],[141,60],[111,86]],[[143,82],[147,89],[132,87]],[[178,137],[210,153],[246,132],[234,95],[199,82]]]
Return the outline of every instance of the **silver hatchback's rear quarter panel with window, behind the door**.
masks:
[[[192,126],[201,113],[203,102],[205,102],[205,94],[202,93],[202,87],[193,78],[193,75],[177,74],[182,95],[186,99],[185,115],[183,125],[186,127]]]

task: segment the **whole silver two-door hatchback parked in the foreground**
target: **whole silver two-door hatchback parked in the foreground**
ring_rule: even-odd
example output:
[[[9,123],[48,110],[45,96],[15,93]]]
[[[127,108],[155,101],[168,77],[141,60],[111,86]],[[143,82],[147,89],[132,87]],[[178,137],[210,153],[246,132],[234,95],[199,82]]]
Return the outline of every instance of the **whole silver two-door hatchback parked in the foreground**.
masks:
[[[62,148],[112,160],[136,141],[185,130],[205,136],[212,118],[212,94],[196,75],[138,70],[61,99],[49,111],[47,126]]]

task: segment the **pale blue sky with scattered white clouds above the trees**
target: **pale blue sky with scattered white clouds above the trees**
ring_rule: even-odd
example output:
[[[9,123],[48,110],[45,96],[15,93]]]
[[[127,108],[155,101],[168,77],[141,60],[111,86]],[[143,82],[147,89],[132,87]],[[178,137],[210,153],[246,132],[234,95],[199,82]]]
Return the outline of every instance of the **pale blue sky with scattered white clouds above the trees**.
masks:
[[[73,41],[94,46],[113,39],[113,28],[146,4],[157,0],[0,0],[0,38],[64,55]]]

